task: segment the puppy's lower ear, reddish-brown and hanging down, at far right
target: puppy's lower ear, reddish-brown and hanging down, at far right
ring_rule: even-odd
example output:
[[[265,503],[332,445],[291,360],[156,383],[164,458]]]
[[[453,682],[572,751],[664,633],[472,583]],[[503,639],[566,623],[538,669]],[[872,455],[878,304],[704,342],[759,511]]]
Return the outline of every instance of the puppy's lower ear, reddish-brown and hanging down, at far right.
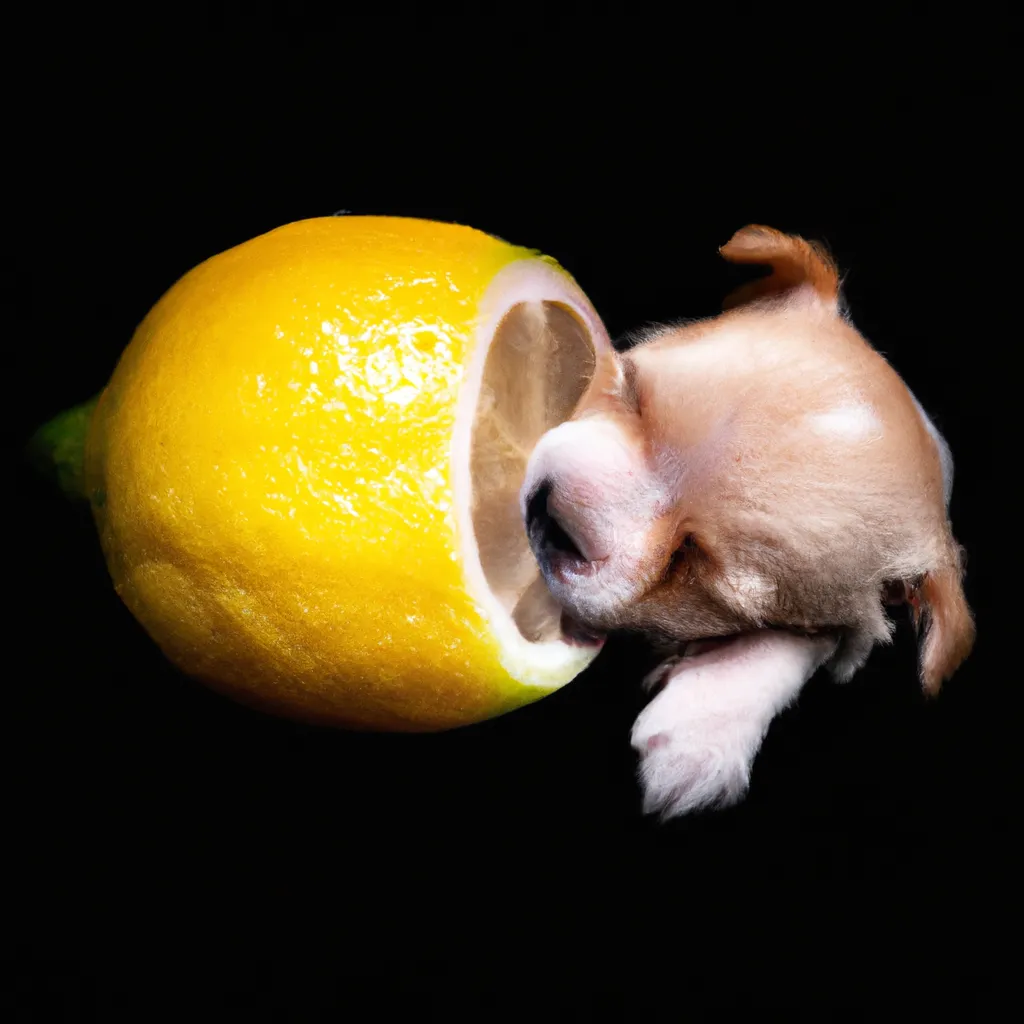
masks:
[[[974,616],[964,597],[963,570],[956,552],[940,568],[925,574],[910,597],[921,637],[921,683],[934,696],[974,646]]]

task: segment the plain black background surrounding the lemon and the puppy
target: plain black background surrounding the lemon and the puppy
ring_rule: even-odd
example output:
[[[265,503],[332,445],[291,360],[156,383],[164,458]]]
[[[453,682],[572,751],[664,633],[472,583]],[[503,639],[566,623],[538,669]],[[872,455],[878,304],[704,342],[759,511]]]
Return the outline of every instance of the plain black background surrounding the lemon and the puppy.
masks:
[[[659,826],[628,742],[641,649],[445,735],[271,720],[165,663],[91,523],[15,456],[18,1020],[991,1013],[1020,823],[994,625],[1016,532],[994,477],[1019,338],[1005,27],[796,19],[769,44],[738,12],[600,10],[37,11],[7,66],[15,447],[103,385],[180,274],[291,220],[433,217],[534,246],[613,335],[716,312],[736,282],[717,247],[768,223],[830,246],[855,323],[951,443],[974,655],[928,702],[904,625],[776,721],[745,804]]]

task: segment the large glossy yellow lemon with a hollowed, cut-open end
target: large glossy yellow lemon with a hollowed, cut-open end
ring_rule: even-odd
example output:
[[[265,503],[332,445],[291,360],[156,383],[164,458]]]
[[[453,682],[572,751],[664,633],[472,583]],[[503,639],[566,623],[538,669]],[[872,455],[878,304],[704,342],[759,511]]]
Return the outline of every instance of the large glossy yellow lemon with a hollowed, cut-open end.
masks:
[[[303,720],[444,729],[596,653],[561,629],[518,490],[609,348],[530,250],[305,220],[185,274],[98,401],[41,436],[121,598],[186,673]]]

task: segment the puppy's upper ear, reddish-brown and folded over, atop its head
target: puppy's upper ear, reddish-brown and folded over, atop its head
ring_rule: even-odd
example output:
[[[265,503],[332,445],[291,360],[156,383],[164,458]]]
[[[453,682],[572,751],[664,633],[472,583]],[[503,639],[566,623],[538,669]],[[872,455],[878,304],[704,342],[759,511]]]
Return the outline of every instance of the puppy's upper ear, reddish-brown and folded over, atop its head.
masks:
[[[748,224],[719,252],[730,263],[762,263],[772,271],[767,278],[737,288],[723,303],[726,309],[801,291],[816,295],[833,307],[839,303],[839,272],[824,247],[816,242],[783,234],[773,227]]]

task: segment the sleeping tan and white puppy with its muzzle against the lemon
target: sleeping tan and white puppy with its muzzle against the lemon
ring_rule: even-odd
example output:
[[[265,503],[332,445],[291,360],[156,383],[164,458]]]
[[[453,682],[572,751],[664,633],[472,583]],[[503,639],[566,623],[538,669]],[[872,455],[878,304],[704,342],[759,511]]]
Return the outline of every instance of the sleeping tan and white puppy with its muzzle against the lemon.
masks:
[[[740,800],[772,718],[823,665],[849,680],[890,639],[887,605],[910,606],[929,694],[974,641],[949,449],[847,318],[833,261],[758,225],[721,252],[771,273],[608,355],[520,495],[567,615],[671,652],[632,735],[665,817]]]

